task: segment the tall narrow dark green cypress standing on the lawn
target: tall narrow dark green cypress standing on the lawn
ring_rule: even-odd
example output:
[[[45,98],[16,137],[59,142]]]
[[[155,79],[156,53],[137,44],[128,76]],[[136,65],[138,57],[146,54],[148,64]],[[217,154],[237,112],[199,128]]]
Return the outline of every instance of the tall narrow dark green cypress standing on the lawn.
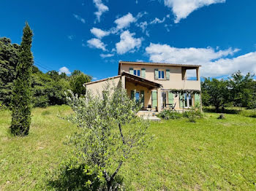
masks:
[[[29,24],[23,28],[20,44],[16,79],[12,90],[12,123],[10,132],[15,136],[29,134],[31,123],[31,71],[33,55],[31,53],[33,33]]]

